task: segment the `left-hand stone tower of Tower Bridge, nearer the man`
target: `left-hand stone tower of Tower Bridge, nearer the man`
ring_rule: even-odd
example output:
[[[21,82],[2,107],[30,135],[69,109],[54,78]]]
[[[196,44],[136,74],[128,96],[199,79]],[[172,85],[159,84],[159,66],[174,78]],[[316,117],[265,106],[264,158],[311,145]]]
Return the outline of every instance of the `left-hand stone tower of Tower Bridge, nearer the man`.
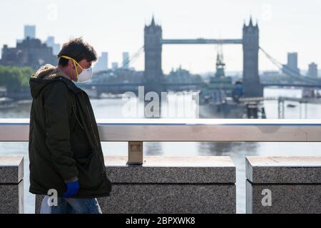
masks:
[[[144,28],[145,91],[160,93],[165,89],[162,71],[162,28],[153,19]]]

